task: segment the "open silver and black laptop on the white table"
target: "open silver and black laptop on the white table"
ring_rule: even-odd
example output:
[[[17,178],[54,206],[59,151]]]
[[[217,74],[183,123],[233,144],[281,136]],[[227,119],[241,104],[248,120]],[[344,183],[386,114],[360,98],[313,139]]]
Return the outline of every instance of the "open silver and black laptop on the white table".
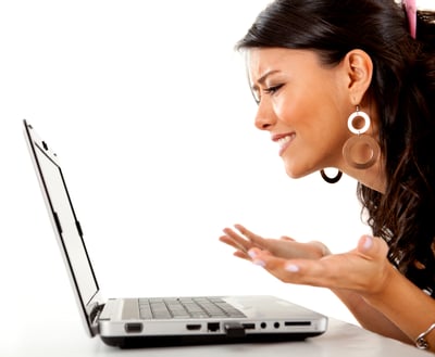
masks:
[[[102,297],[59,158],[34,127],[24,133],[85,330],[121,348],[300,341],[327,318],[268,295]],[[146,281],[146,278],[145,278]]]

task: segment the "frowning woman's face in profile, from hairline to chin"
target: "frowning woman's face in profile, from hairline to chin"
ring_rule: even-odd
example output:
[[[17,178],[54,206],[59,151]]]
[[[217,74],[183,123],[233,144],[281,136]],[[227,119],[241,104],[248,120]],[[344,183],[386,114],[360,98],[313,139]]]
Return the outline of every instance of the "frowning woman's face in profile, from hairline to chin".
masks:
[[[258,99],[256,126],[278,145],[287,175],[302,177],[344,166],[350,137],[347,118],[356,107],[344,66],[325,66],[313,51],[249,50],[249,75]]]

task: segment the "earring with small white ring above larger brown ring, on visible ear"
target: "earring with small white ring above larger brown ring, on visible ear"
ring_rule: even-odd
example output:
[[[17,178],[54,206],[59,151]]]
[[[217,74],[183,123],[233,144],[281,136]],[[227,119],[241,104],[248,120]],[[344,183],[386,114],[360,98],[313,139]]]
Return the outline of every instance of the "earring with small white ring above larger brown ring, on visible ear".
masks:
[[[364,125],[361,128],[355,126],[355,120],[357,118],[362,118],[364,120]],[[356,136],[349,138],[345,142],[343,146],[343,156],[348,165],[353,168],[364,169],[372,167],[380,157],[381,149],[376,140],[364,135],[370,128],[370,116],[361,112],[359,106],[357,106],[356,112],[350,114],[347,120],[349,130]]]

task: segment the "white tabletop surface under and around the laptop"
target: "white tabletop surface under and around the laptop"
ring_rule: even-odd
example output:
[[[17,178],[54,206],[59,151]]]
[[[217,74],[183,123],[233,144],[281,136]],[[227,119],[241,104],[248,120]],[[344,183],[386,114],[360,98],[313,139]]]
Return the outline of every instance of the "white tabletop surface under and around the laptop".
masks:
[[[55,321],[55,320],[54,320]],[[49,322],[49,321],[46,321]],[[357,326],[336,319],[330,319],[325,334],[304,342],[232,344],[207,346],[159,347],[139,349],[120,349],[104,345],[98,337],[85,335],[77,320],[58,322],[52,329],[49,323],[14,324],[14,336],[2,341],[2,357],[29,356],[304,356],[304,357],[412,357],[430,356],[413,346],[403,345],[368,332]]]

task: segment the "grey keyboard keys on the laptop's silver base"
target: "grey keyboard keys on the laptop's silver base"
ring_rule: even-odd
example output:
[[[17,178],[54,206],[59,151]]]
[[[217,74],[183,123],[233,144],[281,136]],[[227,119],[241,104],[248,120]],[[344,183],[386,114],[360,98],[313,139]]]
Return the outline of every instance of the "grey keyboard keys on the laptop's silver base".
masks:
[[[246,317],[220,297],[139,298],[139,310],[140,318],[146,320]]]

